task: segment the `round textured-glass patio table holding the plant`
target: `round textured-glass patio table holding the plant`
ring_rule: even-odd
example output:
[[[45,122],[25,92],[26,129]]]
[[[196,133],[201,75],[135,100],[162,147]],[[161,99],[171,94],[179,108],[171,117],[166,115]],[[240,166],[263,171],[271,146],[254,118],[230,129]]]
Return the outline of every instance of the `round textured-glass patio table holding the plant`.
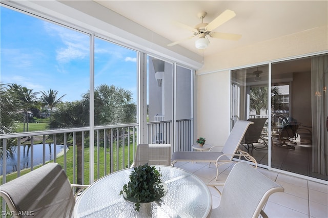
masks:
[[[159,200],[135,204],[120,195],[133,168],[113,172],[88,187],[76,201],[74,217],[207,217],[212,209],[211,193],[192,173],[172,167],[156,166],[167,193]]]

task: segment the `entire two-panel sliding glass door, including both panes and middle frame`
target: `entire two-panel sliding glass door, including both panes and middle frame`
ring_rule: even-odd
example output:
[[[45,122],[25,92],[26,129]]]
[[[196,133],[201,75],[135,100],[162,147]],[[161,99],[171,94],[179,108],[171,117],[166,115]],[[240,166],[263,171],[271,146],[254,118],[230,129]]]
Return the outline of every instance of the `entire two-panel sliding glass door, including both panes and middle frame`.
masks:
[[[231,71],[231,127],[254,122],[240,148],[260,165],[328,180],[328,55],[269,67]]]

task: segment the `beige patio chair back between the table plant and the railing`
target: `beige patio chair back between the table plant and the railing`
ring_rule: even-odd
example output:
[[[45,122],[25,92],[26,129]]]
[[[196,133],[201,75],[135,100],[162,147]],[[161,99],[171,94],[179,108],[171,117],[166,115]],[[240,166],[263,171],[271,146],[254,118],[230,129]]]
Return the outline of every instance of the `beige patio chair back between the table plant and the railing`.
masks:
[[[131,167],[146,163],[171,166],[171,144],[138,144]]]

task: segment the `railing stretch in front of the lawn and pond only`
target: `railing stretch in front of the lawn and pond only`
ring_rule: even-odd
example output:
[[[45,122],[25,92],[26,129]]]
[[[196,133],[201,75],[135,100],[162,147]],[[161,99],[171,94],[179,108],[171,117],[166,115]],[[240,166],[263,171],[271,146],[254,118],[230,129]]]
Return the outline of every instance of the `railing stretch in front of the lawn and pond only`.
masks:
[[[53,156],[53,162],[59,162],[60,165],[67,172],[68,169],[72,172],[71,182],[76,183],[77,179],[77,162],[81,165],[81,184],[86,183],[84,169],[86,165],[89,164],[88,160],[85,160],[85,150],[89,149],[89,127],[81,128],[71,128],[71,129],[58,129],[58,130],[46,130],[41,132],[28,132],[28,133],[16,133],[16,134],[6,134],[0,135],[2,149],[3,149],[3,160],[2,160],[2,184],[7,181],[7,157],[6,150],[8,146],[14,146],[16,152],[16,168],[17,177],[21,175],[21,164],[22,158],[20,145],[23,145],[26,140],[28,140],[28,161],[27,168],[33,170],[34,165],[34,149],[36,146],[42,146],[42,163],[45,164],[46,152],[45,148],[47,144],[53,144],[53,151],[51,154]],[[99,179],[107,175],[108,173],[117,171],[119,169],[130,167],[133,162],[133,156],[136,147],[136,135],[137,135],[137,125],[136,124],[122,124],[122,125],[110,125],[110,126],[97,126],[95,127],[95,137],[94,137],[94,149],[95,149],[95,178]],[[14,139],[15,145],[9,145],[9,140]],[[63,157],[57,157],[57,146],[63,146]],[[66,146],[67,145],[67,146]],[[50,146],[50,145],[49,145]],[[78,148],[80,148],[81,154],[78,157]],[[72,161],[67,160],[67,151],[72,149]],[[101,150],[103,150],[101,152]],[[23,150],[25,152],[25,149]],[[115,154],[113,154],[115,152]],[[100,154],[104,154],[101,157]],[[121,158],[117,158],[121,157]],[[81,159],[81,160],[79,160]],[[70,168],[68,168],[70,167]],[[24,166],[23,166],[24,168]],[[25,169],[24,169],[25,170]]]

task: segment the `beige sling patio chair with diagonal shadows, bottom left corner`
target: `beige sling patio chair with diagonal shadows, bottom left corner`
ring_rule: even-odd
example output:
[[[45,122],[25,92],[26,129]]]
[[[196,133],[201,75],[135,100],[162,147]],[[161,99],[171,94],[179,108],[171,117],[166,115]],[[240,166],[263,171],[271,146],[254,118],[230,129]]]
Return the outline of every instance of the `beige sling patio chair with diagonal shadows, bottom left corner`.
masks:
[[[75,205],[73,185],[57,163],[48,163],[0,186],[0,196],[14,217],[72,217]]]

